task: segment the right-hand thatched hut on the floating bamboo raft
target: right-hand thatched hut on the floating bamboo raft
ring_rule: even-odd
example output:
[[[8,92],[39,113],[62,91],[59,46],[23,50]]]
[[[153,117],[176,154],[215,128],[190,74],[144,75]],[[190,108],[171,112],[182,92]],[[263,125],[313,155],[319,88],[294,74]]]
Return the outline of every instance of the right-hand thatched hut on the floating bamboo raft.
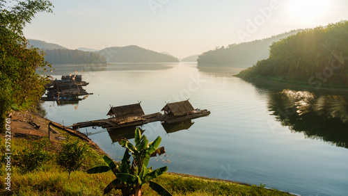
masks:
[[[171,115],[174,117],[180,117],[184,115],[189,115],[194,111],[193,106],[190,104],[189,100],[178,101],[174,103],[168,103],[161,111],[164,111],[164,114]]]

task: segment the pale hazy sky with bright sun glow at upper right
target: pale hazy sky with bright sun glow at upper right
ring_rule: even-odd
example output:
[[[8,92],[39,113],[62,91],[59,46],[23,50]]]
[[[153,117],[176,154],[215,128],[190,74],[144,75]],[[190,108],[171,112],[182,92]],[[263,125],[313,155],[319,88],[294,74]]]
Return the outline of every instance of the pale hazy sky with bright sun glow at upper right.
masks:
[[[178,58],[348,19],[347,0],[52,0],[26,38],[69,49],[138,45]]]

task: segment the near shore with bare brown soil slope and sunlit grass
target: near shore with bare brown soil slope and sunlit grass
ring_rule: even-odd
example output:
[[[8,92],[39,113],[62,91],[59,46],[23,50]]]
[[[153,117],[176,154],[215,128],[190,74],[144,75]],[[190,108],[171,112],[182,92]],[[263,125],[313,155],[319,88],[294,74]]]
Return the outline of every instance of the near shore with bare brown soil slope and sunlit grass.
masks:
[[[16,154],[23,149],[29,149],[33,142],[45,140],[48,136],[48,124],[51,122],[45,117],[30,111],[15,111],[11,115],[11,152]],[[51,122],[52,123],[52,122]],[[51,127],[49,142],[45,151],[52,157],[60,147],[61,140],[70,135],[74,140],[84,142],[88,147],[86,163],[81,170],[72,172],[68,179],[68,172],[64,172],[54,161],[54,158],[43,163],[35,172],[23,173],[18,168],[11,168],[12,186],[11,192],[6,190],[5,168],[1,168],[1,195],[102,195],[102,190],[114,179],[112,172],[103,174],[87,174],[84,170],[102,165],[102,151],[91,140],[81,138],[68,129]],[[1,134],[4,141],[5,135]],[[87,138],[87,137],[86,137]],[[4,150],[4,145],[1,146]],[[16,161],[13,160],[13,163]],[[187,174],[166,173],[155,181],[162,184],[173,195],[288,195],[278,190],[269,190],[264,186],[250,186],[245,183],[223,181],[219,179],[207,179],[194,177]],[[143,188],[144,195],[156,195],[148,186]],[[111,195],[119,195],[118,191]]]

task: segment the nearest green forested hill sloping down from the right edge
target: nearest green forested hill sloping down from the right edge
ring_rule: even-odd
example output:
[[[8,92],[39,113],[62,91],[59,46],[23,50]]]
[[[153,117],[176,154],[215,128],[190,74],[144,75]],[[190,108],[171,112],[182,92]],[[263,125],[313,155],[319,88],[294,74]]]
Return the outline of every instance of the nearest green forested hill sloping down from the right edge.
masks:
[[[309,85],[348,84],[348,21],[317,27],[274,42],[269,58],[238,74]]]

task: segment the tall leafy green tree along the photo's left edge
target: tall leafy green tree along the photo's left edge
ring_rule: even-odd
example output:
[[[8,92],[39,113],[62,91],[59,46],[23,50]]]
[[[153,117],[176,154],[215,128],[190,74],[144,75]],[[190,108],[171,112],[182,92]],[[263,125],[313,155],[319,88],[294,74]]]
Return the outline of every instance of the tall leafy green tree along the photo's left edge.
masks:
[[[42,95],[45,79],[35,73],[48,65],[43,54],[27,48],[23,28],[38,12],[52,13],[52,3],[0,0],[0,124],[4,130],[7,113],[13,108],[28,108]]]

